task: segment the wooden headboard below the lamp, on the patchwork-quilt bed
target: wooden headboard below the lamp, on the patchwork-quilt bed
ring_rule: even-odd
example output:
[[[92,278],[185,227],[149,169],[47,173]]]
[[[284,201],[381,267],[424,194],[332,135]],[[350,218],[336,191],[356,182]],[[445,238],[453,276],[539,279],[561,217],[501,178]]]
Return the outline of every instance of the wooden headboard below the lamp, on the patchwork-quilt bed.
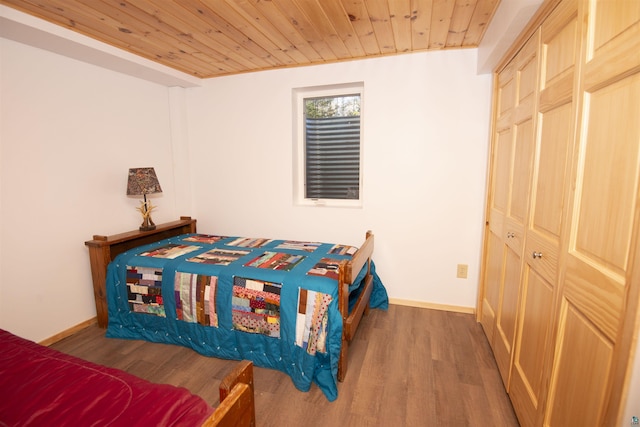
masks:
[[[94,235],[93,240],[84,242],[89,247],[98,325],[106,328],[109,322],[106,294],[107,266],[116,256],[137,246],[195,232],[196,220],[189,216],[181,216],[178,221],[160,224],[155,230],[134,230],[112,236]]]

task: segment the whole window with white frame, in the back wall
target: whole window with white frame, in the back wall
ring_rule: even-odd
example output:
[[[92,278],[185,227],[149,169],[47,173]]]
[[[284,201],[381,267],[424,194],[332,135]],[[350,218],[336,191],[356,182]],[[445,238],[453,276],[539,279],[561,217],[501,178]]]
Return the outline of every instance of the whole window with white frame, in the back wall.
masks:
[[[301,205],[361,206],[363,86],[294,90],[294,197]]]

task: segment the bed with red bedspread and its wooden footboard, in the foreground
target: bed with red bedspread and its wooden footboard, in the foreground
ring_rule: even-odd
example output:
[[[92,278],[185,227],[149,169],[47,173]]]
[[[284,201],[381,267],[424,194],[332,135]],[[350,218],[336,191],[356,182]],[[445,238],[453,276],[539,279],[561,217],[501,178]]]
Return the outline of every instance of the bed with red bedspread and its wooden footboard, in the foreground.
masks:
[[[134,419],[147,420],[149,425],[256,425],[253,362],[249,360],[233,364],[219,384],[220,402],[213,406],[184,387],[154,383],[3,329],[0,348],[3,426],[124,425]],[[62,373],[48,375],[50,371]],[[148,399],[160,406],[149,405]]]

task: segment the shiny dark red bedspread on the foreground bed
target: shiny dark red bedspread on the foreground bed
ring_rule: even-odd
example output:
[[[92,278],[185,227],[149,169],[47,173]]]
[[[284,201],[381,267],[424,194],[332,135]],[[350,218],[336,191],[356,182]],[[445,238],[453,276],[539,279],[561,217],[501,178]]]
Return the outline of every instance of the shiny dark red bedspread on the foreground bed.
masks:
[[[0,425],[199,426],[213,412],[153,384],[0,330]]]

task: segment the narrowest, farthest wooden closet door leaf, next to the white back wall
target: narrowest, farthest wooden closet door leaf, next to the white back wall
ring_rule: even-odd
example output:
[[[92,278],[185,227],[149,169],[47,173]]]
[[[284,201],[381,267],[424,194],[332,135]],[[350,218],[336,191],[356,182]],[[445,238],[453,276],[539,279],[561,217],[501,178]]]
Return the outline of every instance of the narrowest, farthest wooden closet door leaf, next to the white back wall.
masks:
[[[505,237],[504,220],[509,208],[511,158],[513,146],[513,110],[515,106],[515,72],[506,67],[496,78],[494,96],[495,122],[491,150],[491,174],[488,194],[488,228],[484,259],[484,280],[481,294],[480,323],[489,343],[493,343],[503,283]]]

